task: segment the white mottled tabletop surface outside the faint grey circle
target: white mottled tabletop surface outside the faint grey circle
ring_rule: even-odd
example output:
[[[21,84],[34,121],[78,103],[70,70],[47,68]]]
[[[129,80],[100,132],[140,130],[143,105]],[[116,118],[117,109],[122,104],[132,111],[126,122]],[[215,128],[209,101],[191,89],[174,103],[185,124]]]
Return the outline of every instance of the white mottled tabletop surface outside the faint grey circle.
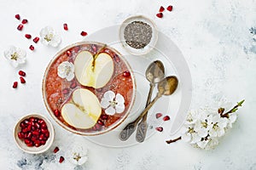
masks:
[[[155,17],[160,5],[173,5],[163,19]],[[29,23],[22,32],[15,14]],[[48,116],[41,95],[41,82],[49,59],[59,48],[106,26],[120,24],[132,14],[152,18],[160,31],[177,43],[187,59],[193,78],[192,108],[211,105],[214,96],[224,94],[236,102],[246,99],[234,128],[216,150],[203,151],[178,142],[168,145],[168,133],[156,133],[143,144],[131,148],[110,149],[92,144],[55,125],[57,155],[49,150],[33,156],[23,153],[14,143],[12,129],[18,118],[28,112]],[[255,0],[0,0],[0,167],[1,169],[256,169],[256,2]],[[67,22],[69,31],[62,29]],[[41,43],[31,52],[25,32],[38,35],[44,26],[61,32],[59,48]],[[254,39],[253,39],[254,38]],[[26,85],[14,90],[18,69],[3,58],[9,45],[27,49]],[[67,138],[72,135],[73,138]],[[63,138],[64,137],[64,138]],[[83,139],[89,149],[89,161],[75,167],[58,163],[71,139]]]

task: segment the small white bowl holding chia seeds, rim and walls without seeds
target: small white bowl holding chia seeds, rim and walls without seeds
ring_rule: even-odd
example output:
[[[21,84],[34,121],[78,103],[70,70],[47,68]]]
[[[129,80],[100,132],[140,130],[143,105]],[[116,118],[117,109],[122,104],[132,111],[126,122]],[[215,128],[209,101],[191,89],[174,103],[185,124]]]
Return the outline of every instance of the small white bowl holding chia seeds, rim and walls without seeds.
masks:
[[[148,43],[148,45],[146,45],[144,48],[132,48],[129,44],[127,44],[125,42],[125,27],[129,24],[131,24],[131,22],[133,21],[142,21],[146,24],[148,24],[149,26],[151,26],[152,28],[152,37],[150,42]],[[154,24],[154,22],[150,19],[148,19],[147,17],[139,14],[139,15],[135,15],[135,16],[131,16],[130,18],[126,19],[122,25],[119,28],[119,39],[122,43],[122,45],[124,46],[124,48],[131,54],[135,54],[135,55],[143,55],[143,54],[148,54],[148,52],[154,48],[157,39],[158,39],[158,31],[157,28]]]

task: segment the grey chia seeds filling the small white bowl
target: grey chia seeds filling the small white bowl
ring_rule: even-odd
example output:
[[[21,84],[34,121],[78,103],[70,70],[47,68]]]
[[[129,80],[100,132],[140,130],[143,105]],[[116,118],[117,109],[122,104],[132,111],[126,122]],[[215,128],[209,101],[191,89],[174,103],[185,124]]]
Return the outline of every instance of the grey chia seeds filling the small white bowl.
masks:
[[[125,42],[131,48],[144,48],[152,38],[152,27],[143,21],[133,21],[125,26]]]

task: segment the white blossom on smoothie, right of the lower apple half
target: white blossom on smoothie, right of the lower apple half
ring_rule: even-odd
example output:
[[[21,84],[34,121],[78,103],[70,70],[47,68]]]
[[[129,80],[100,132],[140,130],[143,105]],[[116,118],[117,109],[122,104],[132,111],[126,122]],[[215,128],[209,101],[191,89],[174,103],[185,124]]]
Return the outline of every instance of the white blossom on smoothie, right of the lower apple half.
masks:
[[[108,90],[103,95],[101,105],[108,115],[114,115],[115,113],[122,113],[125,111],[125,99],[121,94],[114,94],[113,91]]]

